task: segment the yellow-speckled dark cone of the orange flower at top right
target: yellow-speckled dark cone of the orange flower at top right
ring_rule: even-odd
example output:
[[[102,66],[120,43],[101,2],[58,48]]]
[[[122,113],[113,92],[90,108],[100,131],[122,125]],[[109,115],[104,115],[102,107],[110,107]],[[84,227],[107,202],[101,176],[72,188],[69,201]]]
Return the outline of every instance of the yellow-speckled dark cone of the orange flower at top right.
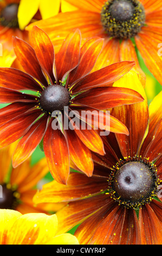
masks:
[[[145,24],[145,10],[138,0],[109,0],[101,11],[105,32],[119,39],[137,35]]]

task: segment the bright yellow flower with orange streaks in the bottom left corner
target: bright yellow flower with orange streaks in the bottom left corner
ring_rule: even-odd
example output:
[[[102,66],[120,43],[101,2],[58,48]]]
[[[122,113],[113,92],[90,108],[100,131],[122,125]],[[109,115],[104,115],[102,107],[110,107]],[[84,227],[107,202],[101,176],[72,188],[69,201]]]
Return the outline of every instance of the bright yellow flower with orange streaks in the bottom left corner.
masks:
[[[79,245],[75,236],[56,231],[56,215],[0,209],[0,245]]]

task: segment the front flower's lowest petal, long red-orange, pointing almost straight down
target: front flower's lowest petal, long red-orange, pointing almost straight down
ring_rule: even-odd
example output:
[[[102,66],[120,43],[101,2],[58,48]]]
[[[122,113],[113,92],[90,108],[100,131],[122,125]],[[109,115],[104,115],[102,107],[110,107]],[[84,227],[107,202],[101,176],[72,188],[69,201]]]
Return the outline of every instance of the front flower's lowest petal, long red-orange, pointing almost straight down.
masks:
[[[44,154],[51,175],[57,182],[67,183],[69,176],[69,149],[67,139],[60,129],[53,130],[52,121],[48,124],[47,131],[43,139]]]

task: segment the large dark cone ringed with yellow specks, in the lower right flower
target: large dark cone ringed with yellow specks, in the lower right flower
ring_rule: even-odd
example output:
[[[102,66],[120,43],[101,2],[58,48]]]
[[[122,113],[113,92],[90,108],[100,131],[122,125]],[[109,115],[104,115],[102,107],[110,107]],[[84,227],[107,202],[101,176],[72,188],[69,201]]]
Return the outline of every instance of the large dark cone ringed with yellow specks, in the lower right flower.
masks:
[[[132,157],[116,164],[110,175],[109,188],[119,204],[137,208],[152,200],[158,182],[157,170],[152,163]]]

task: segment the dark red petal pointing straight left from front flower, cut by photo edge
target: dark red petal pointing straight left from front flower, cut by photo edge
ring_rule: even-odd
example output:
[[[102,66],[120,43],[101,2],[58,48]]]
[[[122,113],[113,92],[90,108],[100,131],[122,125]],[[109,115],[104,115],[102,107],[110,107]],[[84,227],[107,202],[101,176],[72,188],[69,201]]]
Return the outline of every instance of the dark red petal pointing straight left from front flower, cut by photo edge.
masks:
[[[8,88],[0,87],[0,103],[11,103],[11,102],[35,102],[35,96],[18,92]]]

